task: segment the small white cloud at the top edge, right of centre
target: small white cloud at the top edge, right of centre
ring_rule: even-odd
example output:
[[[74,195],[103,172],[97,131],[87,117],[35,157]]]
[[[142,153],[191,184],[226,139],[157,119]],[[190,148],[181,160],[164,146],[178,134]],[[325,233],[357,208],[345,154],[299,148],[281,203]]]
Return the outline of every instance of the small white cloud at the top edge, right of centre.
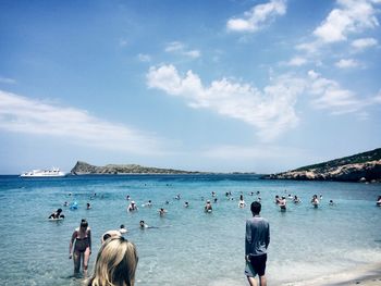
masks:
[[[253,7],[250,11],[244,13],[242,18],[230,18],[226,23],[226,28],[230,32],[254,33],[261,29],[275,16],[284,15],[285,13],[285,0],[271,0],[268,3]]]

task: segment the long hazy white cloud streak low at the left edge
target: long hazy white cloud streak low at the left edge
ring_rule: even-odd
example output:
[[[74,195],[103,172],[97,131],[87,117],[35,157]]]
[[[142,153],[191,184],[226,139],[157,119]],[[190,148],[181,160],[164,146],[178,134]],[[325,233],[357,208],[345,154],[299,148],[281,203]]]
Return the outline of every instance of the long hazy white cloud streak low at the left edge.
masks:
[[[69,138],[108,150],[159,153],[158,138],[89,115],[86,111],[44,103],[0,90],[0,129]]]

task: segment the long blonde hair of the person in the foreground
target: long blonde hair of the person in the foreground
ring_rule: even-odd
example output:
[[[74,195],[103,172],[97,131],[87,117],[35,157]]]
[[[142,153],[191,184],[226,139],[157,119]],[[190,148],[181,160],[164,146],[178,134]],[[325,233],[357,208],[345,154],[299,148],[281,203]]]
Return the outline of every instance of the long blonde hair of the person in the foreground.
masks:
[[[111,237],[100,247],[88,286],[134,286],[137,266],[134,244],[123,237]]]

